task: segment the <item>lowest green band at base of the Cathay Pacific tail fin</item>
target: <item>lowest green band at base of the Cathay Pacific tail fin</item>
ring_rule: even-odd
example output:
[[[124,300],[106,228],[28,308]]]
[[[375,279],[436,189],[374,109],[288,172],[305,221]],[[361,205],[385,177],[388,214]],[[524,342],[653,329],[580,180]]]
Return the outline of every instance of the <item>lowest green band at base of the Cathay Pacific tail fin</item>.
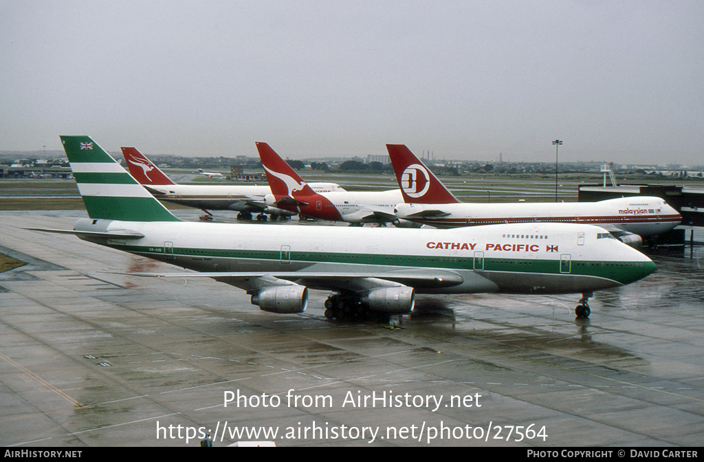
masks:
[[[83,196],[90,218],[121,221],[181,221],[153,197]]]

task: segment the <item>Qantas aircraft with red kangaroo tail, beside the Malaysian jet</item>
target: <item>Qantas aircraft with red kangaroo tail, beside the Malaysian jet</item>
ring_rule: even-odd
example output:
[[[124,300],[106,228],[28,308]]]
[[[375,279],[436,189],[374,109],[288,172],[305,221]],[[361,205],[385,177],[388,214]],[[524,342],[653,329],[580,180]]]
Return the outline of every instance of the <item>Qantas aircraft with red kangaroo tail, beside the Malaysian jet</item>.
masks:
[[[264,198],[267,205],[295,211],[309,218],[356,225],[398,223],[394,207],[403,201],[398,189],[379,192],[315,192],[268,144],[257,143],[257,149],[272,192]]]

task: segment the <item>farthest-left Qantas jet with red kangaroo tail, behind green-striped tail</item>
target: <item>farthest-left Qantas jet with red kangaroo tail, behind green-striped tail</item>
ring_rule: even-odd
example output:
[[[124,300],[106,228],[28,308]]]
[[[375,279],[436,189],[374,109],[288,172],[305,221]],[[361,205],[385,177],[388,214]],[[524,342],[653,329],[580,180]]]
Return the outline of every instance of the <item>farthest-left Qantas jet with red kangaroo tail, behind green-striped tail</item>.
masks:
[[[241,219],[250,219],[252,213],[259,213],[258,220],[265,220],[264,213],[274,218],[296,215],[296,212],[264,204],[264,196],[271,194],[268,186],[177,185],[136,148],[123,147],[122,155],[132,176],[161,201],[203,211],[238,211],[237,218]],[[318,192],[344,191],[339,185],[328,182],[311,183],[310,187]]]

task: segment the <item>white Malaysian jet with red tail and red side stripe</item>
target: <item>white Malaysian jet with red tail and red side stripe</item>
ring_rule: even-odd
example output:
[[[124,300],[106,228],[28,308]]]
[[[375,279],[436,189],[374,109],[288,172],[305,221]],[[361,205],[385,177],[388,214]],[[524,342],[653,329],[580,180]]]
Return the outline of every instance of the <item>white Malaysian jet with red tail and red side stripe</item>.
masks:
[[[659,197],[636,196],[598,202],[468,204],[458,199],[404,144],[386,144],[405,204],[398,218],[435,227],[497,223],[583,223],[598,225],[631,246],[642,237],[672,230],[682,217]]]

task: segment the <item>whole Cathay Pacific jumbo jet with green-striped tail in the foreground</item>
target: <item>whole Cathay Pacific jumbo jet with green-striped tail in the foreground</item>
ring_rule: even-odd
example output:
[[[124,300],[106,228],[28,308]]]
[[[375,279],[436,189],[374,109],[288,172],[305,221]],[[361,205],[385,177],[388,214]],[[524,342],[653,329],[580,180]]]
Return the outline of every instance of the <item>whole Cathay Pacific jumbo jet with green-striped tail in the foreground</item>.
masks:
[[[516,223],[455,230],[184,222],[87,136],[61,141],[90,218],[44,230],[189,268],[251,294],[273,313],[300,313],[308,288],[332,291],[328,317],[409,313],[416,293],[582,293],[655,270],[601,227]],[[152,275],[155,276],[155,275]]]

